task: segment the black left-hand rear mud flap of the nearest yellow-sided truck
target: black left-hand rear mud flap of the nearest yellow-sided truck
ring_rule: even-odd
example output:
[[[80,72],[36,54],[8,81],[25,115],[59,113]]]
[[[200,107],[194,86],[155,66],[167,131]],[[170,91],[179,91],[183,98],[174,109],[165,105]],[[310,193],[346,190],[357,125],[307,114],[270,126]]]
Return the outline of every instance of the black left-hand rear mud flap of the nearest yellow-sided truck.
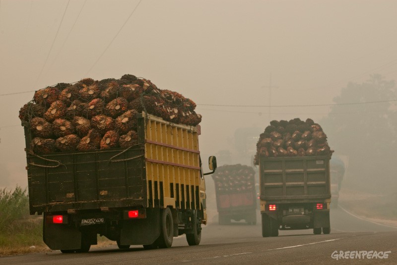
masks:
[[[44,213],[43,241],[52,250],[81,249],[81,232],[66,224],[51,224],[46,222]]]

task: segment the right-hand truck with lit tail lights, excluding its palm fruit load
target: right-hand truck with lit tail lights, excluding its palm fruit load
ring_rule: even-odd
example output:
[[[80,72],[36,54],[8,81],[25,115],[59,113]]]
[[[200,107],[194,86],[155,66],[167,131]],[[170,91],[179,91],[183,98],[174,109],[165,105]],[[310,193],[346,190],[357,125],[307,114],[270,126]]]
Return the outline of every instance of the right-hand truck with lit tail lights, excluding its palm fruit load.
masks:
[[[329,234],[331,155],[259,157],[262,236],[279,230]]]

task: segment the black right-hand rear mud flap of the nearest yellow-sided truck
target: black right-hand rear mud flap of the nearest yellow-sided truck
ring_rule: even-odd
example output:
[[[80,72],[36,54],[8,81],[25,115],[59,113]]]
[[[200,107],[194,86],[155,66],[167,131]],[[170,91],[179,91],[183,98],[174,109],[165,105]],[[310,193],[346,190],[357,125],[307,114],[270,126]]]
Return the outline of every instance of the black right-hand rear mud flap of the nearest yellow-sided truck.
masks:
[[[146,209],[146,218],[124,220],[120,245],[150,245],[160,236],[160,209]]]

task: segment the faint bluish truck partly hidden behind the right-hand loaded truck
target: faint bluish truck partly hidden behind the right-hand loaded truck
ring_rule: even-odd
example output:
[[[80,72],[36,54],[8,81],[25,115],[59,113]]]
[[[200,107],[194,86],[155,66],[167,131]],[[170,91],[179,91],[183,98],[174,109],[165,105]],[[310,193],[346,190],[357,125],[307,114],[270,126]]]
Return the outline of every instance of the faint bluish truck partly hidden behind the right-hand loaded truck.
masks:
[[[345,173],[345,163],[337,156],[331,159],[331,208],[338,207],[339,191],[342,186],[342,180]]]

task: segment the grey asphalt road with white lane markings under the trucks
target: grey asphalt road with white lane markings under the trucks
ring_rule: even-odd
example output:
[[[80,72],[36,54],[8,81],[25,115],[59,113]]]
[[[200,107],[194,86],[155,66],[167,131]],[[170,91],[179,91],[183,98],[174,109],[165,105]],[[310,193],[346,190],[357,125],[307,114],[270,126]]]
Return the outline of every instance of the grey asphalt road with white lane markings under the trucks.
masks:
[[[397,264],[397,228],[378,225],[331,209],[331,234],[313,235],[312,230],[280,231],[275,238],[263,238],[261,222],[220,226],[202,230],[201,244],[189,247],[185,236],[174,239],[170,249],[144,251],[141,246],[119,250],[116,246],[94,247],[89,253],[62,254],[59,251],[0,258],[1,264]],[[332,253],[346,251],[387,252],[378,259],[333,259]],[[362,255],[363,253],[361,253]],[[335,255],[335,254],[333,254]],[[349,256],[349,254],[347,255]]]

